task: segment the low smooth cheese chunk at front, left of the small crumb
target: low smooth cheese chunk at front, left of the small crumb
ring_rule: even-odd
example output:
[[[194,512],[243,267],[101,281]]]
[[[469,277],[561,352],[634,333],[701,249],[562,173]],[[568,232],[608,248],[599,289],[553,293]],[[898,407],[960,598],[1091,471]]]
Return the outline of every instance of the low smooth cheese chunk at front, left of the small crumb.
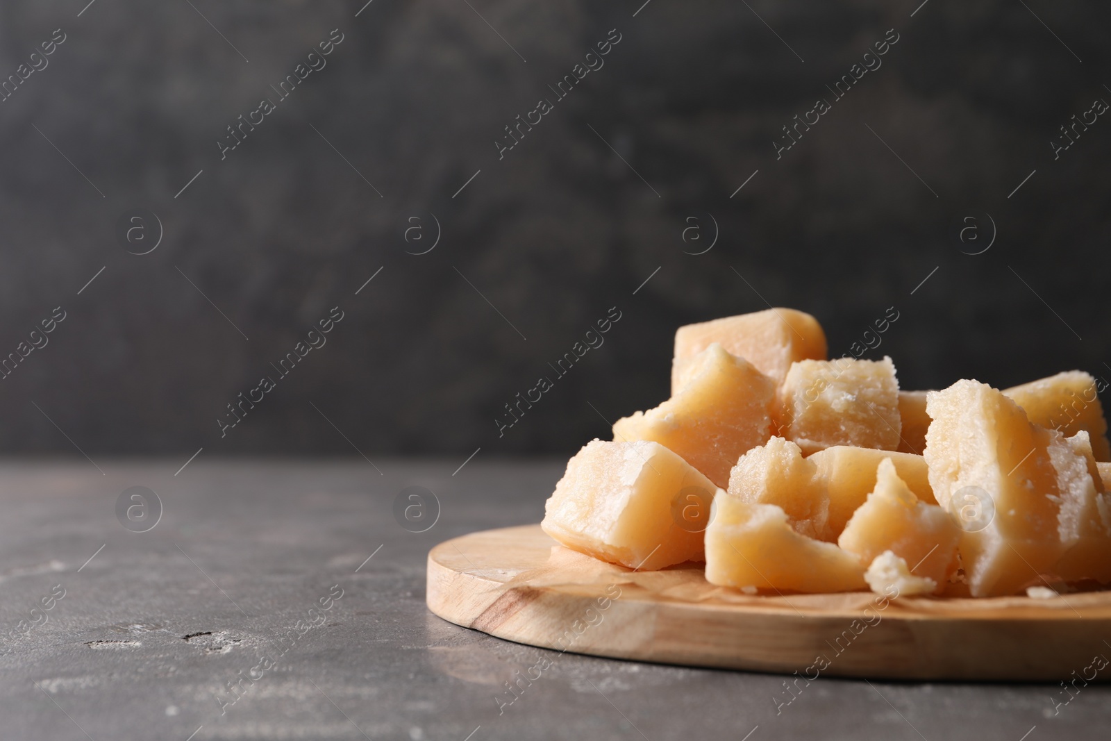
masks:
[[[852,553],[795,532],[779,507],[743,502],[725,492],[714,497],[705,530],[705,579],[711,584],[845,592],[865,588],[863,573]]]

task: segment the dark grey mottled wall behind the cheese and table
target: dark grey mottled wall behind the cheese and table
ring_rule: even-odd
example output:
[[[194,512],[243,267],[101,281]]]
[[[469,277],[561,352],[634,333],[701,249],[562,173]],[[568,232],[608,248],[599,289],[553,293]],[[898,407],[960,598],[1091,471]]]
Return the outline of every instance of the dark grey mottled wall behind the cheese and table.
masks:
[[[667,395],[678,326],[765,301],[815,314],[833,354],[897,307],[870,354],[903,388],[1111,378],[1111,121],[1050,146],[1111,100],[1111,9],[641,2],[4,2],[0,79],[67,40],[0,103],[0,356],[68,317],[0,381],[0,449],[568,453]],[[224,128],[337,28],[220,161]],[[604,67],[499,161],[502,128],[613,28]],[[882,67],[777,161],[780,127],[891,28]],[[137,207],[164,228],[142,257],[114,236]],[[438,247],[407,254],[432,213]],[[962,254],[985,213],[998,239]],[[717,244],[684,253],[707,214]],[[967,216],[979,242],[951,237]],[[221,439],[226,404],[333,306],[328,344]],[[605,344],[499,439],[502,404],[613,306]]]

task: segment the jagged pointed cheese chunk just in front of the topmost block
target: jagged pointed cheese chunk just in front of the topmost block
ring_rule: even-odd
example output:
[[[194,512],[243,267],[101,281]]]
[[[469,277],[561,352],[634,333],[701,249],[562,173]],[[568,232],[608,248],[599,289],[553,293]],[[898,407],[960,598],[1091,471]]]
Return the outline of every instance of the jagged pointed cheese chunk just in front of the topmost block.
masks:
[[[775,388],[771,379],[717,342],[690,361],[687,384],[655,409],[613,425],[613,439],[654,440],[719,487],[741,453],[768,441]]]

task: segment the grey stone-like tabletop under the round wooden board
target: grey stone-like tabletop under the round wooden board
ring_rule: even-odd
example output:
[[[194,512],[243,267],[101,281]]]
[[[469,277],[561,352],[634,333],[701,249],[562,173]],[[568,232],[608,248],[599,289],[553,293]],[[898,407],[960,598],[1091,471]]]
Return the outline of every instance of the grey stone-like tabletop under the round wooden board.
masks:
[[[1042,741],[1111,731],[1111,690],[1097,684],[1054,707],[1070,695],[1050,684],[820,679],[777,707],[791,697],[782,677],[546,652],[431,615],[428,550],[538,521],[556,462],[480,457],[454,475],[459,461],[443,460],[376,461],[381,474],[363,460],[200,458],[177,475],[181,461],[98,464],[103,473],[84,460],[0,467],[4,740]],[[116,513],[136,485],[163,507],[141,533]],[[392,514],[409,485],[441,503],[427,532]],[[553,665],[499,714],[504,682],[542,654]]]

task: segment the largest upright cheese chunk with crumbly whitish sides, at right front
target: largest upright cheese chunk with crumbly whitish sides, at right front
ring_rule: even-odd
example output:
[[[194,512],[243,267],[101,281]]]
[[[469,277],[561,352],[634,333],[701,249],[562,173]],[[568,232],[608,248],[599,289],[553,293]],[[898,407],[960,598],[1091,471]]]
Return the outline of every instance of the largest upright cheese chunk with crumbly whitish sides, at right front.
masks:
[[[934,497],[951,514],[975,513],[960,545],[969,592],[1013,594],[1053,573],[1079,542],[1069,512],[1084,510],[1079,500],[1094,490],[1083,455],[978,381],[931,391],[927,411],[933,421],[923,455]]]

